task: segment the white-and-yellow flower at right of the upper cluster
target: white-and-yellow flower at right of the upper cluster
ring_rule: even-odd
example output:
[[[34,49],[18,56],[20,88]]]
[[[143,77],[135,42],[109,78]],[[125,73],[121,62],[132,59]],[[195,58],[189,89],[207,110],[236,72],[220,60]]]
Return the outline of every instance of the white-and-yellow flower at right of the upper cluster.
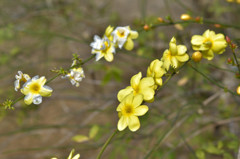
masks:
[[[115,43],[120,49],[124,47],[126,50],[132,50],[134,43],[132,39],[138,37],[138,32],[130,29],[129,26],[117,27],[113,32],[113,43]]]

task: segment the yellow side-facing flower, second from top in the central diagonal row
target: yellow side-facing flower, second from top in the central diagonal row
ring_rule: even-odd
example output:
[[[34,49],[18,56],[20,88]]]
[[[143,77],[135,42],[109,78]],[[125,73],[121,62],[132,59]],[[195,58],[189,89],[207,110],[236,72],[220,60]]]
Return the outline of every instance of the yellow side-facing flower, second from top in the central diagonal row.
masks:
[[[158,86],[162,85],[162,76],[166,73],[165,69],[162,67],[163,62],[156,59],[151,62],[150,66],[147,69],[147,77],[153,77],[155,81],[155,89]]]

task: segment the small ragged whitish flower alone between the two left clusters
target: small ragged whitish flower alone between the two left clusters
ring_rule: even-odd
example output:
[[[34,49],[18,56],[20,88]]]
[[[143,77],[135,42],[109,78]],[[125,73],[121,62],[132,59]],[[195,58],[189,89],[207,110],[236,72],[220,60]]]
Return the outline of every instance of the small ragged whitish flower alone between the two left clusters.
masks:
[[[82,79],[85,78],[85,75],[82,67],[79,67],[70,69],[70,73],[62,76],[62,78],[69,78],[72,85],[76,85],[76,87],[79,87],[79,82],[81,82]]]

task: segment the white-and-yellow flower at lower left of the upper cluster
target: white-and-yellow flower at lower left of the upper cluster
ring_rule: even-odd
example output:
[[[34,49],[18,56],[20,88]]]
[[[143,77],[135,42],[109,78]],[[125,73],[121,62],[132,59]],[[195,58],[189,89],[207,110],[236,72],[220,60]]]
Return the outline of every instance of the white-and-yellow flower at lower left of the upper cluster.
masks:
[[[102,39],[95,35],[94,42],[90,44],[92,47],[92,54],[96,54],[96,61],[104,57],[108,62],[113,60],[113,53],[115,53],[114,44],[104,36]]]

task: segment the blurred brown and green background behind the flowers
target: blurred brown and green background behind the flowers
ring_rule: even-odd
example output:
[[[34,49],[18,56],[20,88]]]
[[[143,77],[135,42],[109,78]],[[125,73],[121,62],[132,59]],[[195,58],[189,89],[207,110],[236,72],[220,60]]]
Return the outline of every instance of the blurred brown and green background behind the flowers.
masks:
[[[111,63],[104,59],[86,63],[80,87],[59,77],[48,84],[54,92],[41,105],[20,101],[15,110],[1,108],[0,158],[67,158],[75,148],[81,158],[94,159],[116,129],[118,91],[129,85],[131,76],[146,74],[172,36],[188,47],[189,54],[191,36],[206,29],[224,33],[239,45],[240,31],[231,27],[189,24],[142,29],[158,23],[158,17],[180,21],[182,13],[240,26],[240,4],[224,0],[0,0],[1,102],[21,96],[13,84],[18,70],[49,79],[55,75],[52,69],[69,68],[73,53],[83,60],[90,57],[93,36],[102,36],[108,25],[129,25],[139,31],[134,50],[117,50]],[[196,67],[235,91],[240,82],[236,67],[227,64],[229,57],[227,49]],[[140,130],[117,134],[103,158],[141,159],[161,137],[152,159],[191,159],[202,153],[211,159],[236,158],[239,99],[185,66],[148,104],[150,111],[140,118]],[[72,139],[88,136],[93,127],[98,130],[93,139]]]

